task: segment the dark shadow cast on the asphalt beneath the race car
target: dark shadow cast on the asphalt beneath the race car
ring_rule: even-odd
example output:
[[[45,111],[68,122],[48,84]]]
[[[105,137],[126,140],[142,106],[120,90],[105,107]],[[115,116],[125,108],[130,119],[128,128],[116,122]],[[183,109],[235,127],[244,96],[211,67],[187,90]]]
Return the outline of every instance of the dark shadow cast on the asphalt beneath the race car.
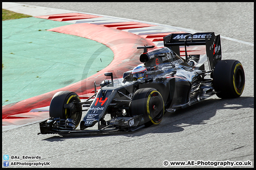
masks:
[[[185,126],[207,124],[207,120],[214,117],[219,109],[254,108],[254,97],[239,97],[234,99],[210,98],[194,104],[188,108],[177,110],[175,113],[167,112],[159,125],[143,128],[134,132],[108,132],[108,133],[77,133],[52,136],[43,140],[64,141],[68,138],[91,138],[107,136],[143,136],[149,133],[175,133],[183,131]],[[235,112],[241,114],[239,112]]]

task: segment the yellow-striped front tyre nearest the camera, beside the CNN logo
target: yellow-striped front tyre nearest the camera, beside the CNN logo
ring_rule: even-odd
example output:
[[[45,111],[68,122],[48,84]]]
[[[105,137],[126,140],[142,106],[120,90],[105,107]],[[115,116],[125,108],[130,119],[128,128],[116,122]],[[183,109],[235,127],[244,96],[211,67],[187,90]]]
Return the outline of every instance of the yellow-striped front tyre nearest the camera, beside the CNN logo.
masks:
[[[146,127],[157,125],[164,116],[164,100],[156,89],[139,89],[134,93],[130,111],[132,116],[143,114]]]

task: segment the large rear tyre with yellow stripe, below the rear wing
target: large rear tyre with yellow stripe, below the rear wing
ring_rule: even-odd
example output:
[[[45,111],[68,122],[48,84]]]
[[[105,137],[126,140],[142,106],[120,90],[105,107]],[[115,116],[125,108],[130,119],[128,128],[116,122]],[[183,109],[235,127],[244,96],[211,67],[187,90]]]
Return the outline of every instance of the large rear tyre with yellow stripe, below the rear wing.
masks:
[[[220,60],[213,70],[213,87],[219,98],[236,98],[242,95],[245,74],[237,60]]]

